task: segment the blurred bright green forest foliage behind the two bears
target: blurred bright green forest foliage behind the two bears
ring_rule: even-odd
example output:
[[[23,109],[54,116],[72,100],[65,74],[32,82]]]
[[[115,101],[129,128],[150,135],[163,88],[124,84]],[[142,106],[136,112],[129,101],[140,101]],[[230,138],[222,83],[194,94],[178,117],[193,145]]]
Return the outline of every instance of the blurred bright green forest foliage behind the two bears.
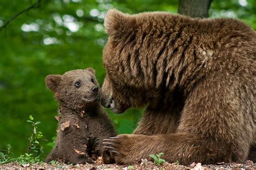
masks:
[[[0,26],[36,0],[0,0]],[[46,89],[48,74],[93,67],[101,84],[105,76],[102,49],[107,40],[103,20],[110,8],[127,13],[168,11],[177,13],[178,0],[43,0],[38,8],[17,17],[0,32],[0,149],[12,145],[16,155],[26,152],[26,136],[33,115],[41,121],[45,154],[56,136],[58,104]],[[214,0],[211,17],[236,17],[256,29],[256,1]],[[143,109],[124,114],[109,112],[118,133],[131,133]],[[43,155],[45,156],[45,155]]]

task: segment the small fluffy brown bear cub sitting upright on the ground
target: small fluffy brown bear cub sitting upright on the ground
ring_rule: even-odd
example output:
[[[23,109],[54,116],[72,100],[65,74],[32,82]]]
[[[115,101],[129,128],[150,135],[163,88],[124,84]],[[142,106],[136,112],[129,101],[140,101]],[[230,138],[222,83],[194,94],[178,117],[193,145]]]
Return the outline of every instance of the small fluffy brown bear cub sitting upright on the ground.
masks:
[[[80,86],[76,87],[78,81]],[[104,138],[116,136],[116,131],[98,102],[98,91],[93,92],[93,88],[98,88],[94,69],[48,75],[45,83],[55,93],[60,108],[56,146],[46,162],[93,163],[102,154],[105,154],[105,161],[111,162],[109,152],[103,151],[102,142]],[[62,129],[67,121],[68,127]]]

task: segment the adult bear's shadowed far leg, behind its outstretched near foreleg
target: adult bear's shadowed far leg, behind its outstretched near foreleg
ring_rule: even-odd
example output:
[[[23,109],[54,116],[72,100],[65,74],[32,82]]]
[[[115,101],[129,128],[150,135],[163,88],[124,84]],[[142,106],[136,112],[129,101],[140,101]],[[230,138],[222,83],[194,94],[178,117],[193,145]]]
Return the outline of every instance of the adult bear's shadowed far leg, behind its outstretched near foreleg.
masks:
[[[134,130],[133,134],[152,135],[176,132],[180,112],[173,110],[175,109],[170,108],[164,111],[156,111],[147,108],[142,120],[139,122],[139,125],[136,130]]]

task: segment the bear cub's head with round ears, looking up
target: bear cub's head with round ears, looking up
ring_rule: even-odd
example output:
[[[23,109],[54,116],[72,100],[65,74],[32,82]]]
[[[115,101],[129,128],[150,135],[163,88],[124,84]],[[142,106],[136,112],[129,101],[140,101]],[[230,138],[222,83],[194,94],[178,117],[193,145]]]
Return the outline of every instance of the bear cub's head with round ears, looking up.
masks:
[[[45,84],[55,93],[61,107],[79,110],[94,107],[99,101],[99,84],[93,68],[71,70],[63,75],[48,75]]]

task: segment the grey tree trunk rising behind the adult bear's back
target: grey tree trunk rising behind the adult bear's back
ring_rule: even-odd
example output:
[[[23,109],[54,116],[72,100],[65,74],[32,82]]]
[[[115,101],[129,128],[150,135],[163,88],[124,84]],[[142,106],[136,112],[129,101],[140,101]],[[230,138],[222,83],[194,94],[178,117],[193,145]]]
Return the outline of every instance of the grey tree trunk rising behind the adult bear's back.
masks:
[[[178,13],[190,17],[207,18],[213,0],[179,0]]]

